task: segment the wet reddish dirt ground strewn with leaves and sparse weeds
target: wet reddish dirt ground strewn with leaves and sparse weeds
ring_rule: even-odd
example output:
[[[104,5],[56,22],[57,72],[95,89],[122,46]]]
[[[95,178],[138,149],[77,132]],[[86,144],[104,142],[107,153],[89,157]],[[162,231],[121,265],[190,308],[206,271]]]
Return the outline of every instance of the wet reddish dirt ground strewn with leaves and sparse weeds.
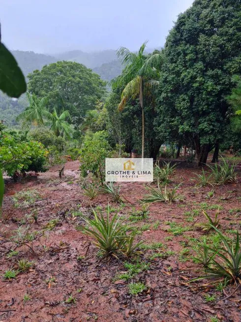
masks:
[[[0,226],[0,321],[241,321],[240,288],[234,292],[236,286],[227,286],[222,293],[213,284],[201,287],[204,281],[186,284],[198,276],[189,241],[204,236],[194,227],[196,220],[204,220],[201,208],[206,207],[208,213],[214,215],[216,210],[212,208],[220,204],[222,231],[229,229],[227,233],[234,236],[230,229],[240,230],[241,179],[225,186],[198,187],[193,172],[200,170],[177,169],[169,186],[181,183],[178,192],[183,201],[172,205],[152,204],[148,217],[135,224],[140,229],[138,240],[145,240],[145,244],[162,243],[163,247],[143,250],[140,260],[149,262],[150,268],[136,275],[132,282],[143,282],[147,289],[132,296],[128,292],[128,282],[115,279],[117,274],[126,272],[122,262],[100,260],[90,238],[76,229],[81,224],[80,217],[73,215],[77,210],[90,215],[90,206],[105,208],[108,202],[112,208],[120,205],[113,203],[106,194],[99,194],[91,202],[83,195],[78,161],[66,163],[62,179],[59,179],[58,169],[53,167],[37,178],[27,177],[6,184]],[[13,195],[30,189],[40,193],[40,200],[25,208],[14,207]],[[208,197],[211,190],[214,194]],[[128,218],[134,207],[140,209],[139,201],[145,193],[143,183],[121,184],[121,194],[128,202],[119,213]],[[187,221],[186,213],[193,210],[199,212],[193,221]],[[37,222],[32,220],[33,213],[37,215]],[[53,219],[58,219],[57,224],[48,230],[46,225]],[[168,231],[168,222],[176,222],[188,230],[173,234]],[[25,246],[16,244],[11,238],[19,226],[22,229],[29,226],[28,232],[35,234]],[[16,250],[18,254],[7,258],[10,250]],[[164,258],[150,259],[151,254],[166,251],[172,252]],[[21,258],[34,262],[34,266],[18,274],[16,279],[5,280],[4,272],[16,269],[17,260]],[[53,282],[49,283],[51,278]],[[24,301],[26,294],[29,300]],[[75,302],[67,303],[70,294]],[[214,300],[207,302],[205,294],[214,294]],[[211,320],[213,317],[218,320]]]

